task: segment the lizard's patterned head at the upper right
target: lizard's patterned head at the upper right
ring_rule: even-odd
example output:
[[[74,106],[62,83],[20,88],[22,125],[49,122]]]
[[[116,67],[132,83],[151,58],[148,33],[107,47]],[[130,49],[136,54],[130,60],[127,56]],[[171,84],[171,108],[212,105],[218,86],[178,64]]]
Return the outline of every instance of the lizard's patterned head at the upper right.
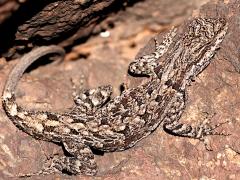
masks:
[[[194,79],[211,62],[227,33],[227,22],[223,18],[197,18],[188,26],[182,38],[183,52],[178,63],[184,64],[184,79]]]

